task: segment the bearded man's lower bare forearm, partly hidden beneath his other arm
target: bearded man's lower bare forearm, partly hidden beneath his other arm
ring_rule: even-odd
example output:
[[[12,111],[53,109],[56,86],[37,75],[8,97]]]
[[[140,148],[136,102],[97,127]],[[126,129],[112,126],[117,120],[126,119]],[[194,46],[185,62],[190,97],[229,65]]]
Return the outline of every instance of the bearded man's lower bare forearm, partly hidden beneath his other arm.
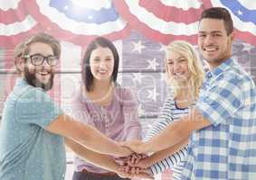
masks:
[[[84,148],[71,139],[65,139],[65,144],[79,157],[89,161],[93,165],[100,166],[109,171],[118,172],[119,166],[115,163],[112,157]]]

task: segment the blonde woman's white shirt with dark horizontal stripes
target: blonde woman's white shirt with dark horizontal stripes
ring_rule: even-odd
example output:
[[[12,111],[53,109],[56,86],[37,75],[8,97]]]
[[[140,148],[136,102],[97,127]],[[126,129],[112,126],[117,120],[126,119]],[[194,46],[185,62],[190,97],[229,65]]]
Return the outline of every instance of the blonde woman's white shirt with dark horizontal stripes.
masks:
[[[178,108],[175,104],[174,96],[169,95],[166,98],[166,102],[162,108],[162,111],[152,128],[147,131],[145,140],[152,139],[154,136],[160,133],[161,130],[166,129],[166,126],[173,121],[177,121],[181,116],[189,112],[188,108]],[[151,172],[156,175],[165,171],[167,168],[172,168],[173,178],[180,179],[183,166],[185,164],[186,148],[182,148],[180,151],[176,152],[174,155],[166,157],[165,159],[157,162],[153,166],[150,166]]]

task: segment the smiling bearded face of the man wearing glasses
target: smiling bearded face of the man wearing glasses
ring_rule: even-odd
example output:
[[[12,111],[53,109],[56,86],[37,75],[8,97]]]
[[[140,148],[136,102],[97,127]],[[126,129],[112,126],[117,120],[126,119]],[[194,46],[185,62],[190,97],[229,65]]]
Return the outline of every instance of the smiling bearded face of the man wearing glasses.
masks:
[[[43,57],[53,56],[53,50],[51,46],[35,42],[30,45],[30,50],[28,55],[42,55]],[[24,66],[24,79],[29,85],[35,87],[42,87],[44,90],[49,90],[53,85],[54,67],[48,65],[44,59],[43,64],[39,66],[34,66],[31,58],[26,58]]]

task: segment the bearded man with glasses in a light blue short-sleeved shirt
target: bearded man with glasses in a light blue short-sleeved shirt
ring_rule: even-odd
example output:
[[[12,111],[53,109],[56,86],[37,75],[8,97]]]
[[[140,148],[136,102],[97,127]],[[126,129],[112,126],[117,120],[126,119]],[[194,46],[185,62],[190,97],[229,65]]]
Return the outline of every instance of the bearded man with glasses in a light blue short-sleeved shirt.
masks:
[[[75,121],[46,94],[52,88],[61,46],[49,34],[35,34],[14,52],[20,77],[5,101],[0,129],[1,180],[64,180],[64,142],[97,166],[119,172],[113,157],[131,155],[90,125]]]

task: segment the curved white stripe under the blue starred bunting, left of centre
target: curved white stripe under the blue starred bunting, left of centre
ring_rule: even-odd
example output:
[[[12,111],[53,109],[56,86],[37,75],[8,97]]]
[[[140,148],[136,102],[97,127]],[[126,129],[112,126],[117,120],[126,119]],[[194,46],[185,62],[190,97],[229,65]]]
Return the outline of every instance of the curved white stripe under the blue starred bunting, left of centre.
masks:
[[[72,19],[65,16],[57,11],[57,9],[50,7],[48,4],[50,0],[36,0],[38,6],[40,7],[40,13],[46,15],[52,23],[56,23],[63,30],[71,31],[76,34],[83,35],[104,35],[115,31],[120,31],[126,26],[126,22],[119,17],[116,22],[109,23],[81,23],[73,21]]]

